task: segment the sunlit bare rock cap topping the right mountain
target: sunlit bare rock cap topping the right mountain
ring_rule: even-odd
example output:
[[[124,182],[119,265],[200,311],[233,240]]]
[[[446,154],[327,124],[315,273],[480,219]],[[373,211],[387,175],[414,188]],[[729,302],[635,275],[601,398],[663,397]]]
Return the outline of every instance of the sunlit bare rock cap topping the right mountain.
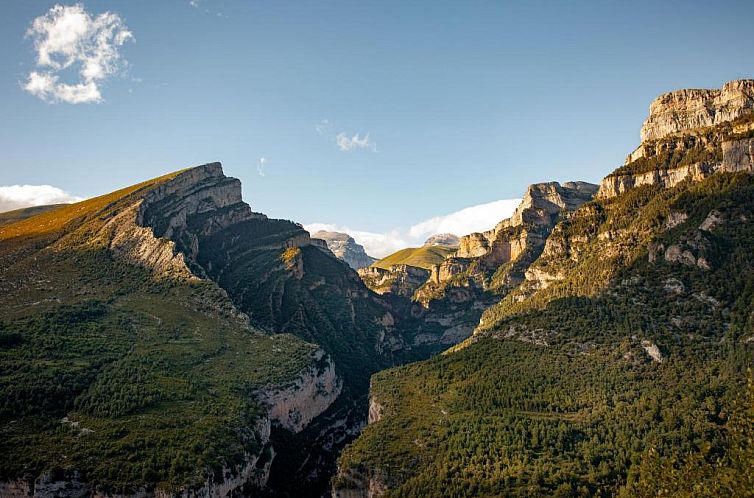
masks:
[[[657,97],[641,128],[641,140],[714,126],[754,111],[754,80],[735,80],[715,90],[677,90]]]

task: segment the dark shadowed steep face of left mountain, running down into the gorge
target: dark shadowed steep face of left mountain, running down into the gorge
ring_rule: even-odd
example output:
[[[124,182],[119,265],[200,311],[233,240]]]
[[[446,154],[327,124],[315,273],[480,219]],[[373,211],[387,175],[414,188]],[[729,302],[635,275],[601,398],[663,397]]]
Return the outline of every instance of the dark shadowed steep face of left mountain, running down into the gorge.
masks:
[[[301,225],[252,213],[238,180],[217,163],[155,189],[138,220],[175,243],[191,271],[216,282],[255,326],[294,334],[332,357],[341,395],[301,433],[273,430],[278,454],[268,482],[278,496],[321,494],[339,448],[366,420],[371,374],[423,354],[403,339],[411,317],[397,320],[389,302]]]

